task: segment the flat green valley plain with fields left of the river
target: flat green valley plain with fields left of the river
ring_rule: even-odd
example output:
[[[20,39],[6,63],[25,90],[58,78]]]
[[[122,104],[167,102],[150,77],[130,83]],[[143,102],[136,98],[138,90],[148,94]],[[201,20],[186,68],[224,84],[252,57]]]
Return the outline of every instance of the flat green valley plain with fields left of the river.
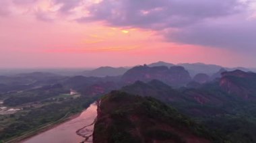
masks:
[[[33,134],[44,126],[62,122],[98,99],[102,91],[97,93],[97,89],[92,88],[93,85],[98,84],[96,87],[100,87],[102,83],[117,79],[119,78],[65,77],[39,72],[0,76],[1,106],[22,109],[12,112],[1,110],[2,114],[13,114],[0,116],[0,140],[11,140],[30,132]],[[70,89],[79,94],[69,95]],[[95,92],[97,94],[92,95]]]

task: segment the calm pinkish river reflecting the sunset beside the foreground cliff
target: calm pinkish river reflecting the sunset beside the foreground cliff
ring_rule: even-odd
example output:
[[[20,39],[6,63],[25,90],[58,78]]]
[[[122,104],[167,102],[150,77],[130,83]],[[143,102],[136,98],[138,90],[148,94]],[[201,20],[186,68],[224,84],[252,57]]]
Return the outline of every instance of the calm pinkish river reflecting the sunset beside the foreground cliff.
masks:
[[[91,104],[88,109],[83,111],[79,117],[65,122],[51,130],[42,132],[22,143],[79,143],[84,138],[78,136],[75,132],[84,126],[92,124],[97,116],[97,105]],[[92,134],[94,126],[86,128],[83,134]],[[92,138],[88,140],[92,142]]]

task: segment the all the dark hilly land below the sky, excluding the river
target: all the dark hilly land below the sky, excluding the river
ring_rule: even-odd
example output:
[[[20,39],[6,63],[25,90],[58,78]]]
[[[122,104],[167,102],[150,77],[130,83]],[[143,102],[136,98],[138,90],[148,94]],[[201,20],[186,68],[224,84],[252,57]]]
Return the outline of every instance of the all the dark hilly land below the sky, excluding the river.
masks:
[[[96,143],[254,143],[256,73],[232,69],[156,62],[69,75],[1,75],[0,139],[19,137],[98,100]]]

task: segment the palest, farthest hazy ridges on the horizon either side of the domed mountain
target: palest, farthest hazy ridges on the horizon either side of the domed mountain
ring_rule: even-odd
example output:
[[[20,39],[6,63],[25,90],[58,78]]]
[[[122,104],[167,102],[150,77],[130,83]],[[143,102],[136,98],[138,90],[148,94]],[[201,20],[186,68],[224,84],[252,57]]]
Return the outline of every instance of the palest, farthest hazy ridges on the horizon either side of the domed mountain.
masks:
[[[228,68],[224,66],[219,66],[216,64],[203,64],[203,63],[182,63],[182,64],[172,64],[169,62],[154,62],[147,64],[148,66],[183,66],[186,70],[189,71],[191,77],[194,77],[198,73],[205,73],[209,76],[217,73],[221,68],[225,70],[243,70],[243,71],[256,71],[256,68],[244,68],[244,67],[234,67]],[[112,67],[112,66],[100,66],[99,68],[90,68],[83,70],[83,68],[42,68],[42,69],[0,69],[0,75],[15,75],[18,73],[32,73],[32,72],[43,72],[43,73],[56,73],[59,75],[84,75],[86,77],[105,77],[105,76],[119,76],[123,75],[127,70],[133,66],[123,66],[123,67]]]

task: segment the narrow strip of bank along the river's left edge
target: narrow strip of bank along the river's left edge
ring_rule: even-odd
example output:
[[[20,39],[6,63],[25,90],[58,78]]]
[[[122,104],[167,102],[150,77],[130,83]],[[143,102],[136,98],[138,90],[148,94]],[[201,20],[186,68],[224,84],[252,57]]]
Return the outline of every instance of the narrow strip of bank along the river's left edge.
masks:
[[[85,111],[85,110],[86,109],[84,109],[83,111]],[[69,122],[69,121],[79,117],[79,115],[81,115],[81,113],[83,111],[81,111],[80,113],[74,113],[71,115],[67,115],[67,117],[64,116],[64,118],[61,118],[60,120],[57,120],[56,122],[46,124],[45,126],[39,127],[38,129],[35,129],[34,131],[28,132],[22,136],[18,136],[17,138],[13,138],[9,141],[6,141],[5,143],[14,143],[14,142],[23,143],[26,140],[28,140],[34,136],[37,136],[38,134],[42,134],[43,132],[46,132],[53,128],[57,128],[57,126],[60,126],[61,124],[65,123],[65,122]],[[69,114],[69,113],[67,113],[67,114]]]

